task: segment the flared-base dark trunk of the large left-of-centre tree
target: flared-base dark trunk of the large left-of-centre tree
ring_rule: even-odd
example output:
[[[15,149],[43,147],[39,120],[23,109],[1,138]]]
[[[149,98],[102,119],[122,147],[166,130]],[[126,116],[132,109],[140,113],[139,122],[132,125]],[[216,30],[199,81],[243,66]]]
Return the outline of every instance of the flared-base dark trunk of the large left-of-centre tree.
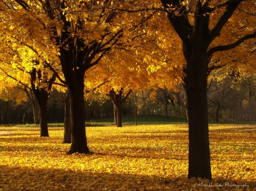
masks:
[[[89,153],[85,134],[85,112],[84,112],[84,79],[80,83],[69,88],[69,106],[71,119],[71,148],[68,154],[75,152]]]

